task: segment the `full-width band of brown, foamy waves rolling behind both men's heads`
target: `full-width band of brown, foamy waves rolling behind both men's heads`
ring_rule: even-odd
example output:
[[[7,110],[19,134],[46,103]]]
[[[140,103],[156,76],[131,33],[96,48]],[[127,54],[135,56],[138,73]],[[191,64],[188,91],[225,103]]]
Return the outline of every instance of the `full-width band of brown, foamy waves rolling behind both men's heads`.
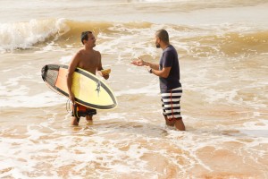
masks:
[[[153,24],[146,21],[72,21],[31,20],[0,24],[0,51],[13,49],[40,49],[55,47],[81,47],[81,31],[95,33],[103,51],[118,51],[154,55],[155,30],[167,29],[172,44],[179,47],[180,55],[191,58],[214,56],[248,56],[267,53],[268,31],[232,25],[224,27],[188,27],[174,24]],[[136,53],[134,53],[134,51]]]

